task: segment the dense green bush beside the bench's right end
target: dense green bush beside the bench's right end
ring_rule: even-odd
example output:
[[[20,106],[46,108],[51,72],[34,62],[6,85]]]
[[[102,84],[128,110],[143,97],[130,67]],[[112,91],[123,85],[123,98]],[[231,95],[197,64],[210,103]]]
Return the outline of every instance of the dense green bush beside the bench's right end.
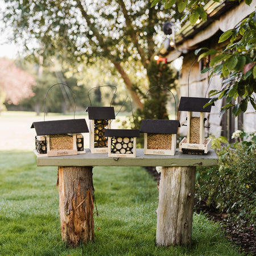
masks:
[[[217,167],[200,167],[197,172],[196,196],[208,206],[226,212],[226,221],[238,228],[255,226],[256,221],[256,133],[236,131],[236,143],[225,137],[212,138],[219,158]],[[245,141],[242,141],[242,138]]]

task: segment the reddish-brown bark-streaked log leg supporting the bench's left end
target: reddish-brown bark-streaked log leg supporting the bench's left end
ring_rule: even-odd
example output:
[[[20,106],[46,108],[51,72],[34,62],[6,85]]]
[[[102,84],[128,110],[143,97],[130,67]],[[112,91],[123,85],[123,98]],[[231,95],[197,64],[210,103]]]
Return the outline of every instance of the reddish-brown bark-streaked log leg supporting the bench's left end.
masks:
[[[61,237],[73,247],[94,238],[92,168],[58,168]]]

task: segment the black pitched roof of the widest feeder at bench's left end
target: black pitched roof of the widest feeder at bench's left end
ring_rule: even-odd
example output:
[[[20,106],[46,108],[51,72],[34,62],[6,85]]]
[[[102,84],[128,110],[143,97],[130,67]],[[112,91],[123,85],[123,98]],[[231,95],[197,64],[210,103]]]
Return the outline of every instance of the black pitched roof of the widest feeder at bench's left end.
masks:
[[[34,122],[31,128],[35,128],[36,135],[89,133],[85,119]]]

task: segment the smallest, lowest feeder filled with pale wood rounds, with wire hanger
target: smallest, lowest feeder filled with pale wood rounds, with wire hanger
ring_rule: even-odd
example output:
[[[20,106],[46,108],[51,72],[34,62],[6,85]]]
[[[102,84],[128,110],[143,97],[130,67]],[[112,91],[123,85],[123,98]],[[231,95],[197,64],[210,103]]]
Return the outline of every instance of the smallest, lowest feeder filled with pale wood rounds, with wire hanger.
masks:
[[[127,97],[125,101],[127,100]],[[125,101],[123,102],[123,105],[125,104]],[[130,105],[131,105],[131,99],[130,99]],[[122,109],[122,106],[121,106],[121,109]],[[131,113],[133,114],[132,109],[131,109]],[[133,120],[134,120],[134,116],[133,116]],[[134,125],[135,125],[135,121],[134,121]],[[109,157],[114,157],[114,158],[135,158],[136,157],[136,138],[139,137],[139,130],[136,129],[136,125],[135,125],[135,129],[130,129],[130,130],[129,129],[105,129],[105,136],[108,137],[108,156]]]

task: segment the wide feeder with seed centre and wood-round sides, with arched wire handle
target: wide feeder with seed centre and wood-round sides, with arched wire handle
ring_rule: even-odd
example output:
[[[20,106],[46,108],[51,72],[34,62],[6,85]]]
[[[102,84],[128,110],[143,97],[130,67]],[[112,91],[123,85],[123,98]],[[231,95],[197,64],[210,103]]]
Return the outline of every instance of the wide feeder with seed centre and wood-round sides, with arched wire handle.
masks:
[[[49,90],[55,85],[52,85],[48,89],[46,97]],[[71,89],[69,86],[68,88]],[[76,112],[76,97],[74,92],[73,95],[75,98]],[[85,154],[84,137],[81,134],[89,132],[85,119],[75,119],[74,112],[74,119],[45,121],[45,109],[46,98],[44,99],[44,121],[33,122],[31,126],[36,131],[35,154],[39,157]]]

